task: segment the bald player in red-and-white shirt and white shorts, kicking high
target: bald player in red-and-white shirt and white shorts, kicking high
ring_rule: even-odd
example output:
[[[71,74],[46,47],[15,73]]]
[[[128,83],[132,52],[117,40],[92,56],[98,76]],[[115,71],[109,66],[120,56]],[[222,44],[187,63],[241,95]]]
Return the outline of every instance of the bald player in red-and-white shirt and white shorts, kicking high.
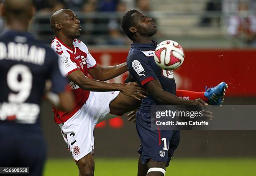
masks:
[[[138,108],[140,99],[145,98],[143,94],[147,93],[136,83],[102,82],[123,74],[128,70],[127,65],[97,65],[87,46],[76,39],[82,29],[72,10],[56,11],[51,16],[50,26],[56,36],[51,47],[59,54],[61,72],[69,78],[76,97],[76,106],[71,112],[54,108],[55,122],[61,127],[61,133],[77,163],[80,176],[93,176],[95,125],[115,117],[112,114],[123,115]],[[94,79],[88,78],[88,73]],[[198,100],[195,102],[202,103]]]

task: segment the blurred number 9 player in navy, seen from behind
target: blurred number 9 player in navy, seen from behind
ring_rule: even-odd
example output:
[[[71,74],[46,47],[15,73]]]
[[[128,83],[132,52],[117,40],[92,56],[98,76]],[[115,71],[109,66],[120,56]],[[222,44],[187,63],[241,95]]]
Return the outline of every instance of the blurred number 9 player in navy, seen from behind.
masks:
[[[69,111],[74,100],[58,56],[28,33],[33,9],[31,0],[5,0],[0,10],[7,27],[0,35],[0,166],[29,167],[29,176],[41,176],[46,145],[38,116],[46,81],[55,106]]]

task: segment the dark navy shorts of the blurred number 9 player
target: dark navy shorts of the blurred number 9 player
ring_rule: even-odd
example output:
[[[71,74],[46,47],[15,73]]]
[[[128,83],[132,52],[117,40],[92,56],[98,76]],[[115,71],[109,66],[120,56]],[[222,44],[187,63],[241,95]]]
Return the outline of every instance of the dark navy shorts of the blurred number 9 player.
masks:
[[[0,139],[1,167],[29,167],[29,174],[22,176],[42,175],[46,143],[40,130],[30,128],[29,125],[0,122]]]

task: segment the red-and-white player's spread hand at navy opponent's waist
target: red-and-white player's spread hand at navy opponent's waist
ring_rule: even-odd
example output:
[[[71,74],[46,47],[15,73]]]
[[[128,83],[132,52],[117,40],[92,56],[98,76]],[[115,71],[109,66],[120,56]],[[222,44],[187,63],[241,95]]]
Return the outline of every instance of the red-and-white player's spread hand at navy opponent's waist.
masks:
[[[145,98],[148,92],[146,89],[143,89],[142,87],[138,87],[138,83],[136,82],[129,82],[127,84],[122,84],[123,86],[120,89],[120,92],[123,94],[133,97],[135,99],[141,100],[142,98]]]

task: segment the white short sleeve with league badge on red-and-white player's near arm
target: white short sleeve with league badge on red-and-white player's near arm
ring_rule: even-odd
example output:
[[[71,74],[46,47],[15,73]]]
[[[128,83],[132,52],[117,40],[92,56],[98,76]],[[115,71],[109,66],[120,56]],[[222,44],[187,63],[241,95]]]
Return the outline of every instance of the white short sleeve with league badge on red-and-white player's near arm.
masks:
[[[59,68],[61,74],[65,77],[78,69],[76,64],[71,61],[70,56],[67,55],[59,56]]]

